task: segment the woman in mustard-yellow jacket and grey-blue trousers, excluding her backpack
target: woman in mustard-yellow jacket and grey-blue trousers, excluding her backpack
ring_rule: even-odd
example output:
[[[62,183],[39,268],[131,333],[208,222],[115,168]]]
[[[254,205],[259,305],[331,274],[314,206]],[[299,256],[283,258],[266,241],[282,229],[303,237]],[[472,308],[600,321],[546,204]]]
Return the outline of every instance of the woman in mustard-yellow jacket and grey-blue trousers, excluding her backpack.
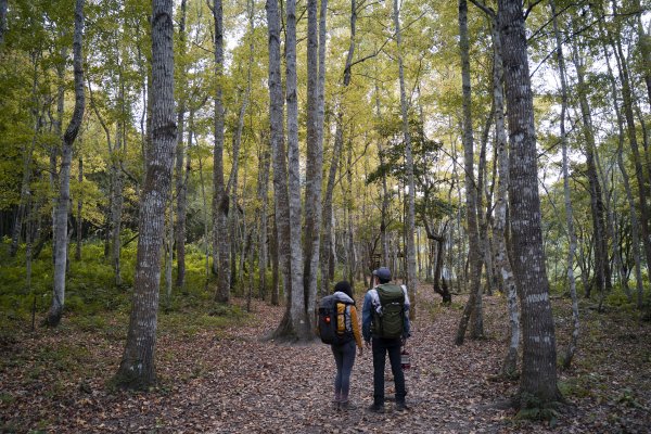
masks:
[[[353,332],[354,339],[339,345],[331,345],[332,354],[334,355],[334,361],[336,363],[336,375],[334,378],[334,405],[337,409],[347,410],[353,408],[348,400],[348,393],[350,391],[350,372],[353,371],[353,365],[355,365],[355,346],[359,348],[359,356],[363,354],[363,347],[361,345],[361,332],[359,329],[359,319],[357,309],[355,308],[355,301],[353,299],[353,290],[350,283],[344,281],[337,282],[334,285],[334,294],[337,302],[337,311],[343,309],[345,318],[345,327],[348,332]]]

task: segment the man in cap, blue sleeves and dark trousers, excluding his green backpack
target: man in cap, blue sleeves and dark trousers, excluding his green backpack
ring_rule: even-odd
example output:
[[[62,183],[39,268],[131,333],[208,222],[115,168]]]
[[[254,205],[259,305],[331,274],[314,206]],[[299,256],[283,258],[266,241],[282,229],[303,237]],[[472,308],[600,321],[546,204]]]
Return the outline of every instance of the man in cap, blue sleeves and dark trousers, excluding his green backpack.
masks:
[[[407,391],[405,388],[405,374],[400,363],[400,347],[410,336],[409,323],[409,296],[407,289],[403,285],[405,293],[405,312],[403,323],[403,336],[397,339],[381,337],[374,333],[376,328],[373,328],[373,311],[381,312],[380,298],[375,288],[380,284],[391,281],[391,271],[386,267],[380,267],[373,271],[374,285],[367,291],[363,297],[363,306],[361,309],[361,333],[367,347],[371,345],[373,349],[373,404],[369,408],[373,412],[384,412],[384,366],[386,363],[386,354],[391,362],[391,370],[396,384],[396,411],[405,411],[408,409],[405,404]]]

